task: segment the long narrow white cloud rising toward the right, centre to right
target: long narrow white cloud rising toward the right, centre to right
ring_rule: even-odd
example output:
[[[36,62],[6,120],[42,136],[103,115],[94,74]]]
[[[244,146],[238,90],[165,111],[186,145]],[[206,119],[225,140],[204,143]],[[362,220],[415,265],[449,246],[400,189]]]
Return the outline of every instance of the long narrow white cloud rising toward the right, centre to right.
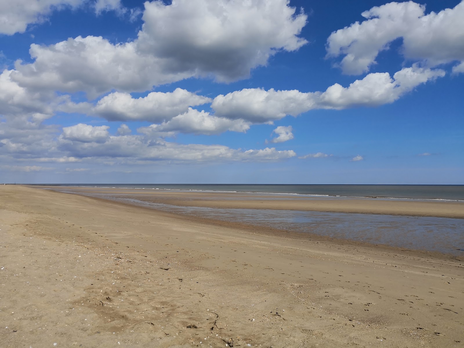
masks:
[[[387,72],[371,73],[348,87],[334,84],[324,92],[260,88],[234,91],[215,97],[211,106],[216,116],[265,123],[309,110],[342,110],[393,103],[418,85],[443,76],[445,71],[441,69],[426,69],[414,64],[396,72],[393,78]]]

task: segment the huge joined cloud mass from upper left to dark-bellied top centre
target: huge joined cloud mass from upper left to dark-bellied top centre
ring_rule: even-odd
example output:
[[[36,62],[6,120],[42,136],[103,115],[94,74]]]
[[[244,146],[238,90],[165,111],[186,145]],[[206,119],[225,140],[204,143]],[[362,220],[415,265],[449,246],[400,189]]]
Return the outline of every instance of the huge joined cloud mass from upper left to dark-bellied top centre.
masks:
[[[15,64],[15,81],[34,89],[150,90],[187,77],[232,81],[249,76],[279,51],[295,51],[306,15],[288,0],[178,0],[145,2],[135,41],[112,44],[78,36],[54,45],[31,45],[34,61]],[[176,23],[172,26],[172,23]],[[165,30],[169,28],[169,30]]]

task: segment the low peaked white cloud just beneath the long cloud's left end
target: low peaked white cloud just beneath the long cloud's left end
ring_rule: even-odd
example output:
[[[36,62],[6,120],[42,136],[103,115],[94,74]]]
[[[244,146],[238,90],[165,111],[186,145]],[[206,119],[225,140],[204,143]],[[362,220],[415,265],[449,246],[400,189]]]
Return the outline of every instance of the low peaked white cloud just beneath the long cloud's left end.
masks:
[[[175,116],[168,122],[152,124],[149,127],[139,129],[144,131],[150,129],[155,132],[181,132],[193,134],[213,135],[224,133],[227,130],[232,132],[245,132],[250,128],[250,123],[244,120],[230,120],[224,117],[210,115],[204,110],[198,111],[188,108],[188,111]]]

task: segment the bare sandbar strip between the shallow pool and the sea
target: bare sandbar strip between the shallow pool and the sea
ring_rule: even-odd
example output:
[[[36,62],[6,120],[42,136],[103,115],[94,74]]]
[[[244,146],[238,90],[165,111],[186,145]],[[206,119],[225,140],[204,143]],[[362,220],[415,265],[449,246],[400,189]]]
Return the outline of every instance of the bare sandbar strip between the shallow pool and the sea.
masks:
[[[464,219],[464,202],[445,200],[394,200],[330,198],[251,193],[177,192],[93,187],[53,187],[67,192],[124,195],[149,202],[175,206],[299,210],[334,213],[370,213],[408,216],[434,216]]]

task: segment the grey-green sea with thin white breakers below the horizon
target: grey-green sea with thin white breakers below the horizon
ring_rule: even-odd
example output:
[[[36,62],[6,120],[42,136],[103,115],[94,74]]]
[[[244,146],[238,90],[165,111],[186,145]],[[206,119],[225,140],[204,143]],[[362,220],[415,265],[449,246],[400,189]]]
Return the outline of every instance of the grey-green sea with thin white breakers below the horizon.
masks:
[[[59,186],[464,201],[464,185],[59,184]]]

